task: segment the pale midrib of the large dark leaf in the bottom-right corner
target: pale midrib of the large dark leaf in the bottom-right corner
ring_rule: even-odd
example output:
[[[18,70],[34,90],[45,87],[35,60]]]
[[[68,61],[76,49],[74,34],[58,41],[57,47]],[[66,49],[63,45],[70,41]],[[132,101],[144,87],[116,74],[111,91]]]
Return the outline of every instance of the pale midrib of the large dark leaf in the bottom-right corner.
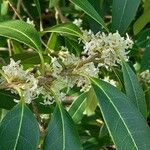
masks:
[[[92,81],[95,83],[95,85],[97,85],[97,86],[103,91],[103,93],[107,96],[107,98],[109,99],[110,103],[112,104],[112,106],[114,107],[114,109],[115,109],[116,112],[118,113],[120,119],[122,120],[122,122],[123,122],[125,128],[127,129],[127,131],[128,131],[128,133],[129,133],[129,135],[130,135],[130,137],[131,137],[131,139],[132,139],[132,141],[133,141],[133,143],[134,143],[136,149],[138,150],[138,147],[137,147],[137,145],[136,145],[136,142],[134,141],[134,138],[132,137],[132,134],[130,133],[130,130],[128,129],[128,126],[127,126],[126,123],[124,122],[124,120],[123,120],[123,118],[121,117],[121,115],[120,115],[119,111],[117,110],[116,106],[115,106],[115,105],[113,104],[113,102],[111,101],[111,98],[107,95],[107,93],[105,92],[105,90],[104,90],[101,86],[99,86],[99,84],[97,84],[97,82],[96,82],[94,79],[91,79],[91,80],[92,80]],[[110,132],[110,134],[111,134],[111,132]],[[112,137],[113,137],[113,136],[112,136]],[[113,141],[114,141],[114,139],[113,139]],[[114,143],[115,143],[115,142],[114,142]]]

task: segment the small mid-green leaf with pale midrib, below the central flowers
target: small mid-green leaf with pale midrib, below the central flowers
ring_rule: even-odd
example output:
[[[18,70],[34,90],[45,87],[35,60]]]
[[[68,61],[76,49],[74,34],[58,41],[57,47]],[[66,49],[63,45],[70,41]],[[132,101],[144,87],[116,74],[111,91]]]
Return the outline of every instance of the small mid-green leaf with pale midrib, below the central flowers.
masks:
[[[81,121],[83,117],[83,112],[85,111],[86,105],[86,93],[81,94],[76,100],[71,104],[68,113],[75,123]]]

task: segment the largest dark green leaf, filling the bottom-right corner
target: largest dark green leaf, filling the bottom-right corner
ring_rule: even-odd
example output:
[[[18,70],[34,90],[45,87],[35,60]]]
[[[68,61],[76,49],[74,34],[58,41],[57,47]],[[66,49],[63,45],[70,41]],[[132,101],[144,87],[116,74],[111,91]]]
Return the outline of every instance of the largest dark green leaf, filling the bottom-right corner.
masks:
[[[91,81],[116,149],[149,150],[150,129],[135,105],[109,83],[96,78]]]

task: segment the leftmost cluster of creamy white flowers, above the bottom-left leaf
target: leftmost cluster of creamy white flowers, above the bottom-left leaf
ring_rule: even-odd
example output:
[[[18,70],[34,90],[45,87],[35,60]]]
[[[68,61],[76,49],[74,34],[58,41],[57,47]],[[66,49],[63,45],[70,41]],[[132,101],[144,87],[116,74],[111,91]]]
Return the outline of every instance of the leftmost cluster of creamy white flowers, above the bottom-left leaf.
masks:
[[[38,80],[28,71],[23,70],[20,61],[10,59],[10,64],[2,67],[3,82],[8,83],[8,89],[18,93],[26,103],[31,103],[38,95]]]

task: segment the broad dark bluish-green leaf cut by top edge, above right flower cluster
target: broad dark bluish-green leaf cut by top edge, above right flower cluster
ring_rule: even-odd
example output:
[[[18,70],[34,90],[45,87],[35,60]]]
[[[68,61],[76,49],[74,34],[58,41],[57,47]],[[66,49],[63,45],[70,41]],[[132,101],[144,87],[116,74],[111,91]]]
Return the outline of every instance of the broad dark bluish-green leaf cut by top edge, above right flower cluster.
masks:
[[[136,15],[140,0],[113,0],[112,30],[124,33]]]

